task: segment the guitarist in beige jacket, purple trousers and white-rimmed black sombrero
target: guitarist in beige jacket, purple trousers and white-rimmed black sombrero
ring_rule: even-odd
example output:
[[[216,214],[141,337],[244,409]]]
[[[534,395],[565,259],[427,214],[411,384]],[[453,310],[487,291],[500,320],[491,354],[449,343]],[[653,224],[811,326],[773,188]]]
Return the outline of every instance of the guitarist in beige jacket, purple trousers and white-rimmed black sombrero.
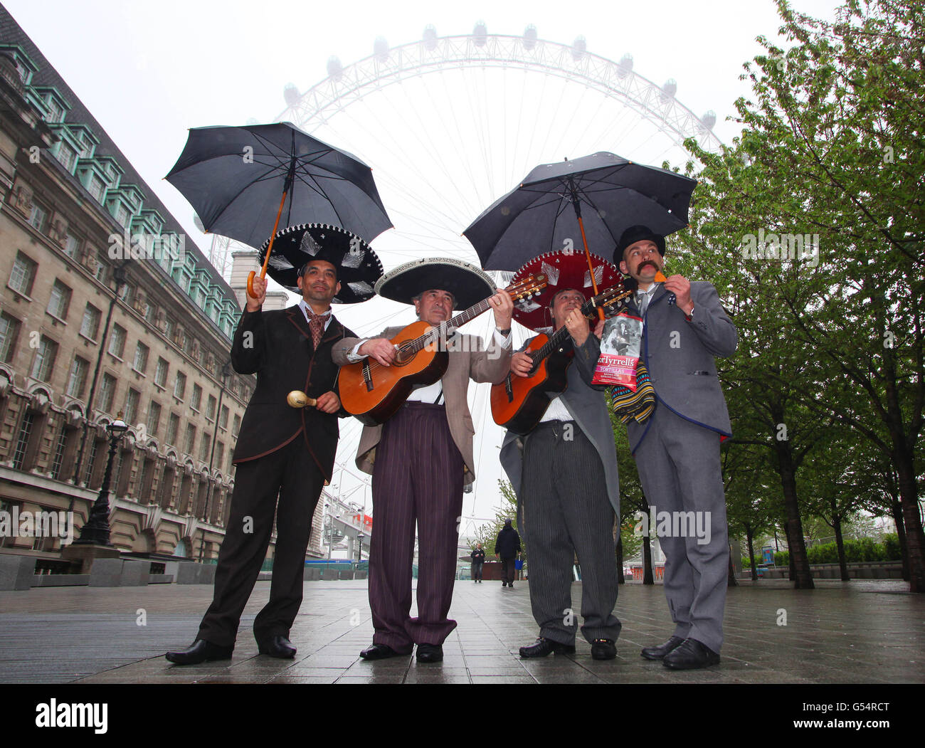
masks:
[[[376,633],[361,656],[411,654],[417,644],[419,662],[439,662],[442,644],[456,628],[447,614],[462,489],[475,480],[469,380],[498,383],[507,376],[513,304],[507,293],[496,293],[483,271],[450,258],[402,265],[376,283],[376,293],[413,303],[418,318],[435,327],[450,320],[456,305],[475,305],[491,296],[497,326],[487,347],[478,337],[450,330],[443,378],[413,390],[383,425],[364,427],[357,450],[357,467],[373,476],[374,507],[369,604]],[[370,340],[345,338],[335,346],[334,362],[343,366],[368,355],[389,366],[395,360],[389,339],[400,331],[389,328]],[[410,617],[415,520],[418,615]]]

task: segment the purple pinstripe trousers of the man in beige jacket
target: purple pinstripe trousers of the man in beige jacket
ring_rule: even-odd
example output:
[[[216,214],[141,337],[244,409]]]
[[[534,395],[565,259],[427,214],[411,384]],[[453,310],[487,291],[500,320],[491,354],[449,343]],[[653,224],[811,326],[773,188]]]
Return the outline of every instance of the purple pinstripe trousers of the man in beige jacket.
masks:
[[[410,402],[383,426],[373,465],[369,605],[373,642],[410,653],[442,644],[456,578],[462,513],[462,455],[443,405]],[[417,617],[410,617],[417,522]]]

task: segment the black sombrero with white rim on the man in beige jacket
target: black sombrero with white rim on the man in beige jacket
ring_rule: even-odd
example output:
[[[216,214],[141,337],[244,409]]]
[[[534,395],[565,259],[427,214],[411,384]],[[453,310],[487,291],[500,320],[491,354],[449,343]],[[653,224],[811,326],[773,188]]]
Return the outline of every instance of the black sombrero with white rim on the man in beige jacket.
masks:
[[[376,282],[376,293],[392,301],[412,304],[418,293],[431,289],[453,294],[458,308],[466,309],[498,291],[482,268],[452,257],[413,260],[389,270]]]

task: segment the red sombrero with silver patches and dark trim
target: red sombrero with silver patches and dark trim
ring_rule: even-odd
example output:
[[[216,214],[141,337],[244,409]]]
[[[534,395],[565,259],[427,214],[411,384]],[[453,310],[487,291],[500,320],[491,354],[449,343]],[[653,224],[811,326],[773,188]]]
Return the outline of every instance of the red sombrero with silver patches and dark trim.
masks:
[[[591,268],[594,268],[594,280],[598,283],[599,291],[623,284],[623,275],[620,270],[603,257],[591,255]],[[514,273],[511,282],[515,283],[532,273],[544,273],[547,277],[547,286],[534,294],[533,298],[515,301],[514,319],[536,332],[546,332],[552,329],[549,300],[556,293],[571,288],[584,293],[586,299],[594,295],[591,270],[588,269],[584,252],[566,249],[534,257]]]

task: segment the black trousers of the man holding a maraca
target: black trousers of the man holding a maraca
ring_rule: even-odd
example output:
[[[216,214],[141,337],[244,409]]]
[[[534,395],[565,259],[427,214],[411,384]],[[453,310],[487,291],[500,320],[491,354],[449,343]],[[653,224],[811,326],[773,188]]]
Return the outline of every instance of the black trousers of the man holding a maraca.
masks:
[[[289,637],[302,605],[305,549],[324,482],[302,434],[276,452],[238,465],[225,540],[218,551],[215,595],[200,624],[199,639],[234,644],[266,556],[274,514],[277,545],[270,600],[253,621],[253,635],[257,642],[277,634]]]

